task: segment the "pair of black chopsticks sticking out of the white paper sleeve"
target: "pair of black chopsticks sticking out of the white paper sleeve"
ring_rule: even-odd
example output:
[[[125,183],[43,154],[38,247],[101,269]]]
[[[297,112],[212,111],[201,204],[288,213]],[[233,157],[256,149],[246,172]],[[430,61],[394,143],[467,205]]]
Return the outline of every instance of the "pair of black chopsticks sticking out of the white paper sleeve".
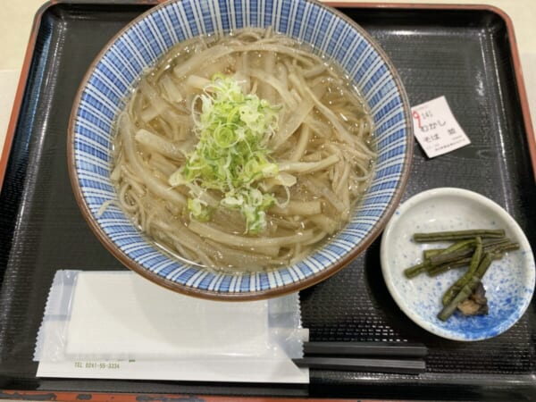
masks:
[[[422,344],[402,342],[305,342],[298,367],[369,373],[424,373]]]

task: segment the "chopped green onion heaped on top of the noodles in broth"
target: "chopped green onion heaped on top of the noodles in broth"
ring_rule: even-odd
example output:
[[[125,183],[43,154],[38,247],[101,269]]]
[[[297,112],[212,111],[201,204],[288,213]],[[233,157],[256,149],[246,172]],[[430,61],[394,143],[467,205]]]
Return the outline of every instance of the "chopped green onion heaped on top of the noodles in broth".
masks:
[[[247,232],[259,233],[266,228],[265,211],[276,201],[256,183],[279,174],[267,147],[277,130],[279,108],[256,95],[245,95],[239,82],[222,74],[214,76],[194,105],[199,100],[201,113],[194,116],[199,142],[184,167],[172,174],[170,184],[195,182],[221,191],[221,205],[239,210]],[[212,212],[208,205],[191,193],[190,197],[189,213],[198,221],[208,221]]]

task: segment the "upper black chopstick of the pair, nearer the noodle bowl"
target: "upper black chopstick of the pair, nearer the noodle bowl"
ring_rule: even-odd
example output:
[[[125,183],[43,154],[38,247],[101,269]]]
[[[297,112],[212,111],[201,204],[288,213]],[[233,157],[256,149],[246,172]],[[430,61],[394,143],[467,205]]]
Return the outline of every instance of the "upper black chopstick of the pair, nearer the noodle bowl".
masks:
[[[405,342],[304,342],[305,355],[424,357],[420,343]]]

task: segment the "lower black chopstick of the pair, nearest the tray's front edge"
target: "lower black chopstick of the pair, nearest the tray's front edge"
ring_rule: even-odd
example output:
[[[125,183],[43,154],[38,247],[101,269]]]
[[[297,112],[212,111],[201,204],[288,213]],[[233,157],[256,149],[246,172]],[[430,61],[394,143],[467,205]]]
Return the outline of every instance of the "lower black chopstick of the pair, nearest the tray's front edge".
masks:
[[[378,358],[344,358],[344,357],[303,357],[294,359],[298,367],[322,370],[344,370],[368,373],[424,373],[426,364],[421,359],[378,359]]]

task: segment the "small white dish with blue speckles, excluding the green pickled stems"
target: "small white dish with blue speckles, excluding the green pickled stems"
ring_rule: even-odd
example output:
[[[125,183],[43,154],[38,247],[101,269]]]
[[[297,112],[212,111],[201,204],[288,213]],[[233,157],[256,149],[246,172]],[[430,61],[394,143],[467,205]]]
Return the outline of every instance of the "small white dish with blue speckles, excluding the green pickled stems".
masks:
[[[436,316],[441,297],[465,268],[408,280],[404,269],[420,263],[424,249],[441,245],[415,243],[412,235],[417,231],[476,228],[505,229],[520,249],[493,262],[482,279],[490,307],[488,315],[467,317],[456,312],[447,322],[441,322]],[[434,188],[398,206],[381,239],[381,270],[402,311],[425,330],[447,339],[481,340],[507,331],[531,303],[534,290],[534,256],[523,230],[502,207],[461,188]]]

